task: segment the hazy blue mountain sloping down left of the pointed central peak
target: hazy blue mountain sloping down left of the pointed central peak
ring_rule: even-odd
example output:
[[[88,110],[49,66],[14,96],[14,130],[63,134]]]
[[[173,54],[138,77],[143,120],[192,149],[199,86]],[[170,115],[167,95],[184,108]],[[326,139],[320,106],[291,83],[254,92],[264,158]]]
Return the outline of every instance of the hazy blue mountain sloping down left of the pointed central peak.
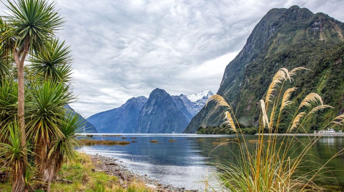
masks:
[[[94,114],[87,121],[94,124],[99,133],[133,133],[142,106],[147,102],[144,96],[133,97],[119,108]]]

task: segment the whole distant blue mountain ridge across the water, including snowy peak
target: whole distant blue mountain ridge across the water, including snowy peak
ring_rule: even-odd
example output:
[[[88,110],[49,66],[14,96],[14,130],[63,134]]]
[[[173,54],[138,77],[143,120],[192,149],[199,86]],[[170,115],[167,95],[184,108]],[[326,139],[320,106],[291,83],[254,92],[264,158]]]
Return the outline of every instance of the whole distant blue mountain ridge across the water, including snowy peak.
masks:
[[[192,95],[190,101],[189,95],[170,95],[157,88],[148,99],[131,98],[119,108],[94,114],[87,120],[99,133],[182,133],[213,93]]]

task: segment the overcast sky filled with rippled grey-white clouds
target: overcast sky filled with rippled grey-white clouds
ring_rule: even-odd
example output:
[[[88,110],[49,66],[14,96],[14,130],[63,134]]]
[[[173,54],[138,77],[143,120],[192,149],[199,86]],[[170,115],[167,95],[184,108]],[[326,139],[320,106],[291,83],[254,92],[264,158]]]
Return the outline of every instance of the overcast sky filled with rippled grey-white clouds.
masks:
[[[272,8],[299,5],[344,21],[343,0],[57,0],[72,46],[77,112],[117,108],[155,88],[216,93],[226,65]],[[2,5],[3,8],[3,5]]]

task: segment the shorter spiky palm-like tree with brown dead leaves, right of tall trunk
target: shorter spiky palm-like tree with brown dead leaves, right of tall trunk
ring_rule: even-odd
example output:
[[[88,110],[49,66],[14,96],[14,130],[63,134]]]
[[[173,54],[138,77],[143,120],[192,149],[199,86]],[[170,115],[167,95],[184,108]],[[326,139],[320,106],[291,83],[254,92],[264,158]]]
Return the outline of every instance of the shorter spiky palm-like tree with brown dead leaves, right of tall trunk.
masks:
[[[65,84],[50,79],[29,91],[29,102],[26,105],[28,136],[34,144],[35,164],[41,181],[44,181],[49,147],[54,139],[63,137],[60,128],[66,115],[63,106],[72,99]]]

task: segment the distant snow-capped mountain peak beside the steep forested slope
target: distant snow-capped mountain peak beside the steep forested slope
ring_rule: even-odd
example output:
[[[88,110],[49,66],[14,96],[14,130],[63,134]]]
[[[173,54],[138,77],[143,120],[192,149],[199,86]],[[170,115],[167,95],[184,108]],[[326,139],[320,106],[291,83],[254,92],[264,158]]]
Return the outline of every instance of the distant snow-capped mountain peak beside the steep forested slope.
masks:
[[[207,103],[209,97],[214,95],[211,91],[202,91],[191,95],[179,95],[186,109],[195,116]]]

